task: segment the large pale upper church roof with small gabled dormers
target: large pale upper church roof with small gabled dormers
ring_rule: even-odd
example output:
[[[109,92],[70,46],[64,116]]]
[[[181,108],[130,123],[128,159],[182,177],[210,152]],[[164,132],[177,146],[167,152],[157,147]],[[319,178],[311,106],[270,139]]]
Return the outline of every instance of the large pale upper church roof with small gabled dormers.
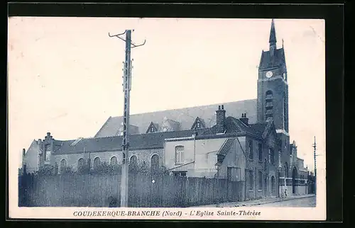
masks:
[[[222,103],[227,116],[239,118],[241,113],[247,113],[249,122],[256,122],[256,99]],[[179,122],[180,130],[190,130],[197,117],[204,120],[205,127],[212,127],[216,123],[215,111],[218,104],[209,106],[196,106],[191,108],[180,108],[173,110],[163,110],[153,113],[142,113],[130,115],[131,125],[138,127],[138,134],[146,133],[151,122],[163,123],[164,118]],[[110,117],[95,137],[114,136],[121,126],[122,116]]]

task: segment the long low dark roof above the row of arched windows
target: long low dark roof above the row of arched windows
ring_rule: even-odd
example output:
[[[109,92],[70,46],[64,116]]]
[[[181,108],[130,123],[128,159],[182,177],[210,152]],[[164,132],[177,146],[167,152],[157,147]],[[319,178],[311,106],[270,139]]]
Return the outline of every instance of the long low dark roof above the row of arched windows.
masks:
[[[176,137],[189,137],[195,130],[184,130],[178,132],[155,132],[142,135],[130,135],[130,149],[153,149],[163,148],[164,139]],[[197,130],[199,132],[199,130]],[[75,140],[57,141],[60,148],[57,149],[55,154],[77,154],[80,152],[107,152],[107,151],[120,151],[122,144],[121,136],[113,137],[99,137],[82,139],[80,142],[71,146]]]

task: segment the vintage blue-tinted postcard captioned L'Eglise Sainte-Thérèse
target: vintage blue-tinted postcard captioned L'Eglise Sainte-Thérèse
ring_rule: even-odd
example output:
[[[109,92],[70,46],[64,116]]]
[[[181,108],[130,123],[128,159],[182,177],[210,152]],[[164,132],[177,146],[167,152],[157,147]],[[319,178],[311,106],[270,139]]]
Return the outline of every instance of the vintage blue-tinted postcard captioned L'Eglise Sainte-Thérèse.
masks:
[[[324,20],[8,24],[9,217],[326,220]]]

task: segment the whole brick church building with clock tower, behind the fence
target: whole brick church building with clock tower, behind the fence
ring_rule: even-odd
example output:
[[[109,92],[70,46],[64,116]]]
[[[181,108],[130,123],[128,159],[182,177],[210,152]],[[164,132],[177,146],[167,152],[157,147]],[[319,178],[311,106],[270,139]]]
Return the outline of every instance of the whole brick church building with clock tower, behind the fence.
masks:
[[[276,47],[271,22],[269,50],[261,52],[257,98],[130,115],[129,164],[170,175],[245,182],[248,199],[307,193],[307,168],[290,143],[288,72],[284,47]],[[60,174],[85,164],[121,164],[123,117],[109,117],[94,137],[33,140],[23,149],[31,173],[51,165]],[[219,171],[216,169],[218,165]]]

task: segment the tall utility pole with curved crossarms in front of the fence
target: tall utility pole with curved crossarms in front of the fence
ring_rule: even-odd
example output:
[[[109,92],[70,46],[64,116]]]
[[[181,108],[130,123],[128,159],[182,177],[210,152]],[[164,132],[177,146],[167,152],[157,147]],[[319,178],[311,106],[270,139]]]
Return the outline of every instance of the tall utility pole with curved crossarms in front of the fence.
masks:
[[[134,31],[134,30],[133,30]],[[131,91],[131,71],[132,71],[132,61],[131,61],[131,48],[139,47],[146,44],[146,40],[144,40],[143,44],[135,45],[131,42],[131,30],[126,30],[124,33],[117,35],[110,35],[109,37],[116,37],[121,40],[120,35],[124,35],[126,33],[126,55],[124,62],[124,76],[123,79],[123,91],[124,91],[124,128],[123,128],[123,137],[122,137],[122,153],[123,153],[123,161],[122,161],[122,171],[121,171],[121,207],[128,207],[128,196],[129,196],[129,99],[130,99],[130,91]]]

